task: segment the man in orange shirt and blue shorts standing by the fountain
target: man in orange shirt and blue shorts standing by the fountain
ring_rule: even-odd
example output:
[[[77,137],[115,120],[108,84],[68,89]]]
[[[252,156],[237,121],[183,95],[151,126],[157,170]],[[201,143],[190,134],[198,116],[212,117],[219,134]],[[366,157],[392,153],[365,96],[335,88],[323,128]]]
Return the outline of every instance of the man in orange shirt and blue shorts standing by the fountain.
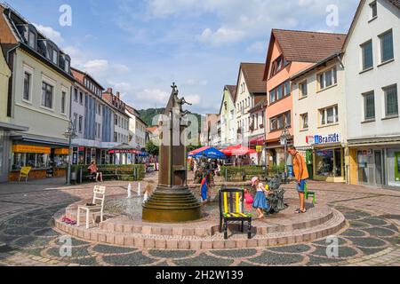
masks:
[[[300,209],[297,209],[295,212],[306,213],[306,198],[305,198],[305,190],[307,186],[308,180],[308,169],[306,160],[304,157],[296,150],[295,146],[290,146],[288,149],[288,153],[292,155],[293,158],[293,174],[296,178],[297,182],[297,191],[299,193],[300,198]]]

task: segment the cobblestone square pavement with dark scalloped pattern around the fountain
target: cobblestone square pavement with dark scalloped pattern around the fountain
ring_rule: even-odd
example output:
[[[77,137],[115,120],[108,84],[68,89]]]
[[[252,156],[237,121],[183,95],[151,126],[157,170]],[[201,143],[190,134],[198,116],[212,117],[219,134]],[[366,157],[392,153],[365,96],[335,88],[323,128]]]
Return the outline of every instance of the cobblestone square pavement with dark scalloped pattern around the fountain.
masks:
[[[126,183],[108,182],[108,194]],[[137,187],[136,183],[132,184]],[[292,185],[287,197],[295,197]],[[0,265],[400,265],[400,192],[354,185],[310,183],[318,203],[339,209],[348,228],[338,236],[339,257],[326,240],[276,248],[156,250],[121,248],[72,238],[71,256],[51,218],[68,204],[92,196],[92,185],[62,180],[0,185]]]

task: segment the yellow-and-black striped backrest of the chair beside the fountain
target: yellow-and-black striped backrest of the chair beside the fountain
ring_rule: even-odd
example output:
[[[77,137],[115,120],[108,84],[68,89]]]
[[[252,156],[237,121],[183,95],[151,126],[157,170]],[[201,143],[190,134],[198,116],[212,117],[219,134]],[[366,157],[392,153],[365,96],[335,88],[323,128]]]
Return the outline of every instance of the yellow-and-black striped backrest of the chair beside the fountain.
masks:
[[[222,188],[220,190],[220,215],[226,213],[244,213],[244,190]]]

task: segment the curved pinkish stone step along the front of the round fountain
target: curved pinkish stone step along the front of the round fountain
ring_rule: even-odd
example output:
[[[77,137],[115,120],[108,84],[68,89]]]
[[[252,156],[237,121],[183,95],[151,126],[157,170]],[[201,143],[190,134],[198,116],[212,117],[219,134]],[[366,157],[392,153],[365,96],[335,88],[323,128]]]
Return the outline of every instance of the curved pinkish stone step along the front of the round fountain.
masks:
[[[245,234],[235,234],[230,236],[228,240],[224,240],[221,233],[199,237],[196,235],[109,233],[100,227],[92,227],[86,230],[84,226],[77,227],[61,223],[60,214],[55,217],[54,224],[60,231],[69,233],[77,238],[117,246],[160,249],[220,249],[260,248],[315,241],[340,232],[346,225],[346,220],[339,211],[332,209],[332,217],[321,225],[306,229],[294,229],[290,232],[257,234],[251,240],[247,240]]]

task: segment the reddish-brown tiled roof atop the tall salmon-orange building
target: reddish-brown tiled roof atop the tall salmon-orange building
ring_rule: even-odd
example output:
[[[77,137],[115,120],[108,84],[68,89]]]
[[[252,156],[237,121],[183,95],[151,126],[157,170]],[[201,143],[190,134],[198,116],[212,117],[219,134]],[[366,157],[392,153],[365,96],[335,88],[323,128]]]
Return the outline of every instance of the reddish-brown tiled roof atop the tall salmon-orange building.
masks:
[[[273,29],[287,61],[317,62],[341,51],[346,35]]]

